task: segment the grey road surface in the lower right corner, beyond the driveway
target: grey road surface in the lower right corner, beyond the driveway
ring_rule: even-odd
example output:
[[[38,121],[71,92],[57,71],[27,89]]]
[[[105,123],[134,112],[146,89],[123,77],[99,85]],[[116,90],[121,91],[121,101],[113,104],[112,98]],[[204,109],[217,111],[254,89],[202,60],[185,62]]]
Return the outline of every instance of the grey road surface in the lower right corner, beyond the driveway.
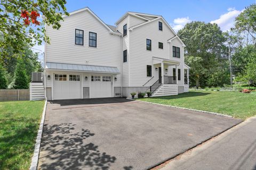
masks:
[[[256,117],[174,158],[161,170],[256,169]]]

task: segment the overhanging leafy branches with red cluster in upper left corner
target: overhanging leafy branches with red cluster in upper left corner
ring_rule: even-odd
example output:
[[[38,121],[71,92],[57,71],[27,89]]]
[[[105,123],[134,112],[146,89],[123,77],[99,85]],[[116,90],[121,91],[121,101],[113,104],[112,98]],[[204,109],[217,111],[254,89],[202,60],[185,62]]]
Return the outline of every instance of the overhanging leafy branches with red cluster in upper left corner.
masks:
[[[65,4],[65,0],[1,0],[0,56],[8,55],[10,47],[14,54],[22,55],[24,42],[30,46],[41,45],[42,40],[50,43],[43,26],[47,24],[59,29],[62,15],[68,15]]]

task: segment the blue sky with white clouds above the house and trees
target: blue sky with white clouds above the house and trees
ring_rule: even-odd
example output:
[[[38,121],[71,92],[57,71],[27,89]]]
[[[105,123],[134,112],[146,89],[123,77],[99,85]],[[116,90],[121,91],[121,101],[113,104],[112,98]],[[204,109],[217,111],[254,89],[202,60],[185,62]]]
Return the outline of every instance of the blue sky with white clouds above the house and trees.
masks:
[[[256,0],[67,0],[66,7],[68,12],[72,12],[87,6],[110,25],[115,25],[125,12],[131,11],[162,15],[175,31],[191,21],[217,23],[222,31],[227,31],[234,26],[236,16],[255,2]],[[43,52],[44,45],[33,48],[35,52]]]

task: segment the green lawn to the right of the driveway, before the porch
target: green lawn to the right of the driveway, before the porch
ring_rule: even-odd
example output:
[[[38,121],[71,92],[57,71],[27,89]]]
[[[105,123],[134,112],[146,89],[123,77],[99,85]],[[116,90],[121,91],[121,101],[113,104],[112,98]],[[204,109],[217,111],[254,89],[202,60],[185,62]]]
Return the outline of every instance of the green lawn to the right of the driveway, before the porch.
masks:
[[[138,99],[158,104],[216,112],[245,119],[256,115],[256,94],[235,91],[190,91],[177,96]]]

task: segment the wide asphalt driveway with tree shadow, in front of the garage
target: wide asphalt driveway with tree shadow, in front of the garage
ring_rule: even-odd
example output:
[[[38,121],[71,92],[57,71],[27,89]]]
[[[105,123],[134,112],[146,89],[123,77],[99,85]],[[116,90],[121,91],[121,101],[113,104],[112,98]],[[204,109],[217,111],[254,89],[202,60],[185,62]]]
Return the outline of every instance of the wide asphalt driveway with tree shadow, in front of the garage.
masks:
[[[241,122],[124,98],[47,104],[39,169],[149,169]]]

